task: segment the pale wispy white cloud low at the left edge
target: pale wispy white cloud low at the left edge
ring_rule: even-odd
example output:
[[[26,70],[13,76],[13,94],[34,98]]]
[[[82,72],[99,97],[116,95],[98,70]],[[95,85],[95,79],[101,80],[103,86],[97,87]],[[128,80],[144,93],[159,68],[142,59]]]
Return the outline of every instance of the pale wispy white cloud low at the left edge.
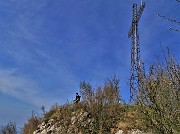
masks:
[[[45,99],[39,98],[41,89],[36,82],[25,78],[14,69],[0,69],[0,92],[33,105],[42,105]]]

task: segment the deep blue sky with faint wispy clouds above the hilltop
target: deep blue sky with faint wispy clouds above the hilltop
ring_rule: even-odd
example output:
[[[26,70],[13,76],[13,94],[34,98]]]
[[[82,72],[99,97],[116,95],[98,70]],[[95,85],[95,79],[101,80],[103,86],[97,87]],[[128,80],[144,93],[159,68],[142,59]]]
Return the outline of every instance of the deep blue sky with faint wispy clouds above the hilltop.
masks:
[[[79,82],[120,78],[129,100],[132,4],[140,0],[0,0],[0,125],[22,127],[41,105],[72,101]],[[169,47],[180,60],[180,20],[175,0],[147,0],[139,24],[146,65]]]

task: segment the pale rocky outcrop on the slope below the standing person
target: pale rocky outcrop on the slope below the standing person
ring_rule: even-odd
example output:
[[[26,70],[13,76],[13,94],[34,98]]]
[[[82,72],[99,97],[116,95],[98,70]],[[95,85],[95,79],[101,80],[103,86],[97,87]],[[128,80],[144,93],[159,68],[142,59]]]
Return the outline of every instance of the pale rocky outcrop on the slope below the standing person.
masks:
[[[89,112],[73,112],[68,120],[50,119],[41,123],[33,134],[91,134],[94,119]]]

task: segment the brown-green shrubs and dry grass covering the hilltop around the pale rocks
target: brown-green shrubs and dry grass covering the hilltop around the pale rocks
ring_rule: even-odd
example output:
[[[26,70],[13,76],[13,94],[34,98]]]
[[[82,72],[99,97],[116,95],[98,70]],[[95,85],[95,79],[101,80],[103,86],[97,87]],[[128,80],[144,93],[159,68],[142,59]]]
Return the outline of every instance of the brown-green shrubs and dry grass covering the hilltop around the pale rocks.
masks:
[[[109,134],[120,129],[124,132],[140,129],[153,133],[179,133],[180,66],[173,57],[165,59],[165,64],[152,65],[147,73],[140,70],[139,91],[134,104],[120,104],[122,98],[117,77],[96,88],[83,81],[80,83],[80,103],[54,105],[42,118],[33,115],[25,124],[23,134],[32,134],[37,128],[36,123],[52,118],[68,120],[72,112],[81,109],[94,118],[91,128],[79,128],[84,133],[91,130],[93,134]]]

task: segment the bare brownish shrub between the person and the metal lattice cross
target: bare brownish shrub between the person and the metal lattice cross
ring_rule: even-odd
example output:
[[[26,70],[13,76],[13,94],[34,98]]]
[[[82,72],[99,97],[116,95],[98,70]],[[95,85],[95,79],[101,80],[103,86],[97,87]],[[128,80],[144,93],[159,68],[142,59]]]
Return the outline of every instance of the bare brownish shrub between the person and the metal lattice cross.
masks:
[[[118,110],[120,102],[119,79],[113,77],[106,80],[103,87],[93,89],[89,83],[80,83],[82,103],[95,119],[93,133],[110,133],[120,118]]]

